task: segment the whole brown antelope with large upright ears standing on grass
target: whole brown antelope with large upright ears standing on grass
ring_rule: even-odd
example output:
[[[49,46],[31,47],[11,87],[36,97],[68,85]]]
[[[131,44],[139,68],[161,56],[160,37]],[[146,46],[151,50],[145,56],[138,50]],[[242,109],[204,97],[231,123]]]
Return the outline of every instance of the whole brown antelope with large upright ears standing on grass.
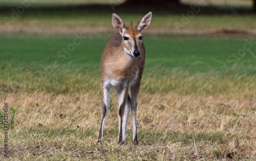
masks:
[[[109,91],[111,88],[114,88],[119,98],[118,143],[123,144],[125,142],[127,118],[131,108],[133,141],[138,144],[136,126],[137,96],[146,58],[141,31],[146,29],[150,24],[151,17],[152,13],[150,12],[139,21],[136,27],[131,26],[130,28],[126,28],[118,15],[112,15],[112,24],[118,32],[110,37],[100,60],[102,120],[98,142],[101,142],[103,139],[104,123],[108,117]],[[131,88],[132,97],[128,94],[129,88]]]

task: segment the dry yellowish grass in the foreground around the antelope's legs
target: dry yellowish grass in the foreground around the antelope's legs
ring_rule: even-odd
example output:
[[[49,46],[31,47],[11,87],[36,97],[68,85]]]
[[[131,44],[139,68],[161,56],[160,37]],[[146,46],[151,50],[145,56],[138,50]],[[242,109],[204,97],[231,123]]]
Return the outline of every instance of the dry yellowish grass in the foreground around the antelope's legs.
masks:
[[[132,143],[130,121],[127,142],[118,146],[114,92],[105,140],[96,145],[101,117],[98,72],[67,72],[65,81],[56,72],[51,76],[55,80],[47,77],[39,84],[29,81],[38,78],[33,72],[27,72],[24,81],[19,79],[23,72],[10,73],[0,82],[0,102],[17,109],[9,130],[10,160],[255,159],[255,76],[146,72],[138,97],[140,144]]]

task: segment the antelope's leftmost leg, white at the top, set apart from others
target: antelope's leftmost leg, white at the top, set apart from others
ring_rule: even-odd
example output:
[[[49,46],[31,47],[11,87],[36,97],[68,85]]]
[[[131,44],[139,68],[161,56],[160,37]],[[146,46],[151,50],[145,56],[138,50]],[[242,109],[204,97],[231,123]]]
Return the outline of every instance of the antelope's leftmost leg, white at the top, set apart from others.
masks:
[[[103,83],[102,83],[103,84]],[[104,85],[104,84],[103,84]],[[110,104],[110,86],[106,85],[102,87],[102,94],[101,94],[101,124],[99,129],[99,137],[98,142],[101,142],[103,140],[103,129],[106,119],[108,118],[108,109]]]

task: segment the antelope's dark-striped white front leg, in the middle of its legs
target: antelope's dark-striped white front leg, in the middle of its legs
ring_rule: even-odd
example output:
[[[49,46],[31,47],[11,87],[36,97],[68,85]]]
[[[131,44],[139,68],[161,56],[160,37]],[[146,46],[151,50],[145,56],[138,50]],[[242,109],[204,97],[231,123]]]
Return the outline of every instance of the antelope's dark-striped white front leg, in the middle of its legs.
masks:
[[[126,138],[126,125],[130,112],[131,99],[128,96],[128,88],[125,88],[121,91],[117,91],[118,94],[118,122],[119,122],[119,135],[118,135],[118,144],[122,145],[125,142]],[[129,98],[128,98],[129,97]]]

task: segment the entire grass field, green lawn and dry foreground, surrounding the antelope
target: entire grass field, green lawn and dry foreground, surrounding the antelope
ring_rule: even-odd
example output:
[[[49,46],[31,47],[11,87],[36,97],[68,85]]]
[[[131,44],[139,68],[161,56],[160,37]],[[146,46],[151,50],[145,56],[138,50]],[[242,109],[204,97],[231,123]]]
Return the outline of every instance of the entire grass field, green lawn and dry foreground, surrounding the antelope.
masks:
[[[173,20],[181,16],[153,15],[146,29],[150,32],[143,33],[146,64],[138,96],[139,145],[132,143],[131,119],[126,143],[117,144],[114,92],[104,141],[96,144],[101,119],[99,62],[115,31],[111,13],[61,16],[28,11],[4,28],[7,13],[0,14],[0,132],[4,136],[7,102],[9,157],[4,157],[0,137],[1,160],[256,159],[255,35],[164,34],[162,30],[173,30]],[[122,14],[126,24],[143,16]],[[253,30],[253,19],[198,15],[185,29]],[[77,46],[76,35],[83,37]],[[244,52],[247,40],[251,48]]]

